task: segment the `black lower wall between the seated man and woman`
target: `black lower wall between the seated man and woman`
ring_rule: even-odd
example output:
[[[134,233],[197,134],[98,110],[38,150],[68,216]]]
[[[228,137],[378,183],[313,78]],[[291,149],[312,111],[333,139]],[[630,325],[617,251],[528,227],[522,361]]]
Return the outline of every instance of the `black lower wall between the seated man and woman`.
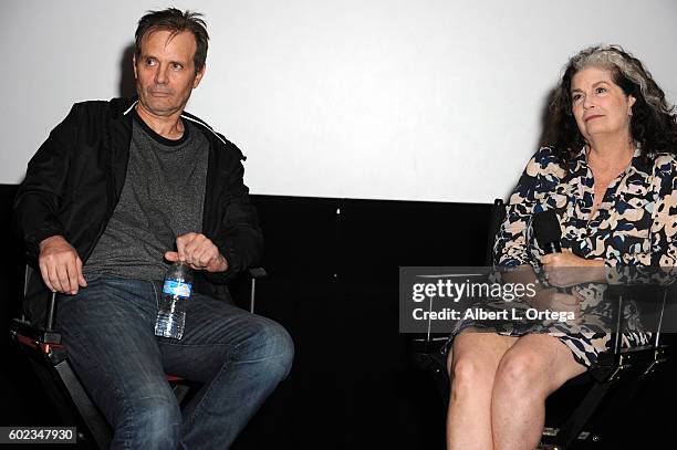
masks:
[[[289,402],[275,414],[288,421],[284,443],[441,448],[441,401],[412,365],[409,336],[398,334],[398,269],[481,265],[489,206],[253,200],[270,272],[259,311],[296,346],[291,386],[279,391]]]

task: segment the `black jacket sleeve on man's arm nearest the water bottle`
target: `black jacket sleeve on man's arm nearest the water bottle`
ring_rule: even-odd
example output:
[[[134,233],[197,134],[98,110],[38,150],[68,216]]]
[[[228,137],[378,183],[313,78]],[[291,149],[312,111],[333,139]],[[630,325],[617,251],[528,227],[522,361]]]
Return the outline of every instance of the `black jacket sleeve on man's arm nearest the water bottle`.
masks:
[[[223,200],[219,231],[209,238],[228,261],[228,270],[205,273],[213,283],[227,283],[248,268],[260,263],[263,254],[263,234],[257,210],[249,198],[249,189],[244,186],[243,175],[244,168],[239,159],[228,174],[223,174],[228,195]]]

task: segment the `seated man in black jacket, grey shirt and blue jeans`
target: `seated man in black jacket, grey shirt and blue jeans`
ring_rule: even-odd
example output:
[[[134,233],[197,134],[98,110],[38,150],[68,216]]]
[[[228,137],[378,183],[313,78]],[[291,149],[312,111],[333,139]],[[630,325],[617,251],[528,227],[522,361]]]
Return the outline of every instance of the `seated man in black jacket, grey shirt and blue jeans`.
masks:
[[[259,259],[262,238],[241,153],[184,112],[205,75],[207,40],[199,14],[144,15],[138,100],[75,104],[31,159],[15,201],[44,283],[33,276],[27,313],[44,315],[44,286],[60,293],[69,359],[113,426],[114,449],[228,448],[291,366],[280,325],[213,297]],[[176,260],[196,279],[180,341],[154,335]],[[204,383],[183,411],[165,373]]]

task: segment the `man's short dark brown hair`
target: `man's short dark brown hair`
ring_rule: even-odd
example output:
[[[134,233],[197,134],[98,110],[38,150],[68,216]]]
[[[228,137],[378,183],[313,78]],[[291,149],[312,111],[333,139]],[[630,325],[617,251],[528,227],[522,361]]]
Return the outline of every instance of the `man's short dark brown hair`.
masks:
[[[195,36],[197,43],[197,50],[192,62],[195,64],[195,73],[197,74],[207,60],[207,48],[209,41],[209,34],[207,34],[207,24],[201,19],[202,14],[199,12],[191,12],[186,10],[181,12],[176,8],[167,8],[162,11],[148,11],[146,15],[139,19],[138,27],[136,28],[134,44],[134,55],[138,60],[140,57],[140,44],[144,36],[154,31],[171,31],[173,35],[181,33],[184,31],[190,31]]]

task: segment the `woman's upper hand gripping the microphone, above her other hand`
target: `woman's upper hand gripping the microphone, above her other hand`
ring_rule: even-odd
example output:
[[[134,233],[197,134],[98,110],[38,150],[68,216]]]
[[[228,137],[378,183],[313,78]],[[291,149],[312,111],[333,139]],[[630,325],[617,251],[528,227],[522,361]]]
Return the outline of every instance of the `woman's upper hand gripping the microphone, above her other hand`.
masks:
[[[541,259],[550,285],[567,287],[594,281],[605,281],[604,261],[586,260],[570,250],[550,253]]]

